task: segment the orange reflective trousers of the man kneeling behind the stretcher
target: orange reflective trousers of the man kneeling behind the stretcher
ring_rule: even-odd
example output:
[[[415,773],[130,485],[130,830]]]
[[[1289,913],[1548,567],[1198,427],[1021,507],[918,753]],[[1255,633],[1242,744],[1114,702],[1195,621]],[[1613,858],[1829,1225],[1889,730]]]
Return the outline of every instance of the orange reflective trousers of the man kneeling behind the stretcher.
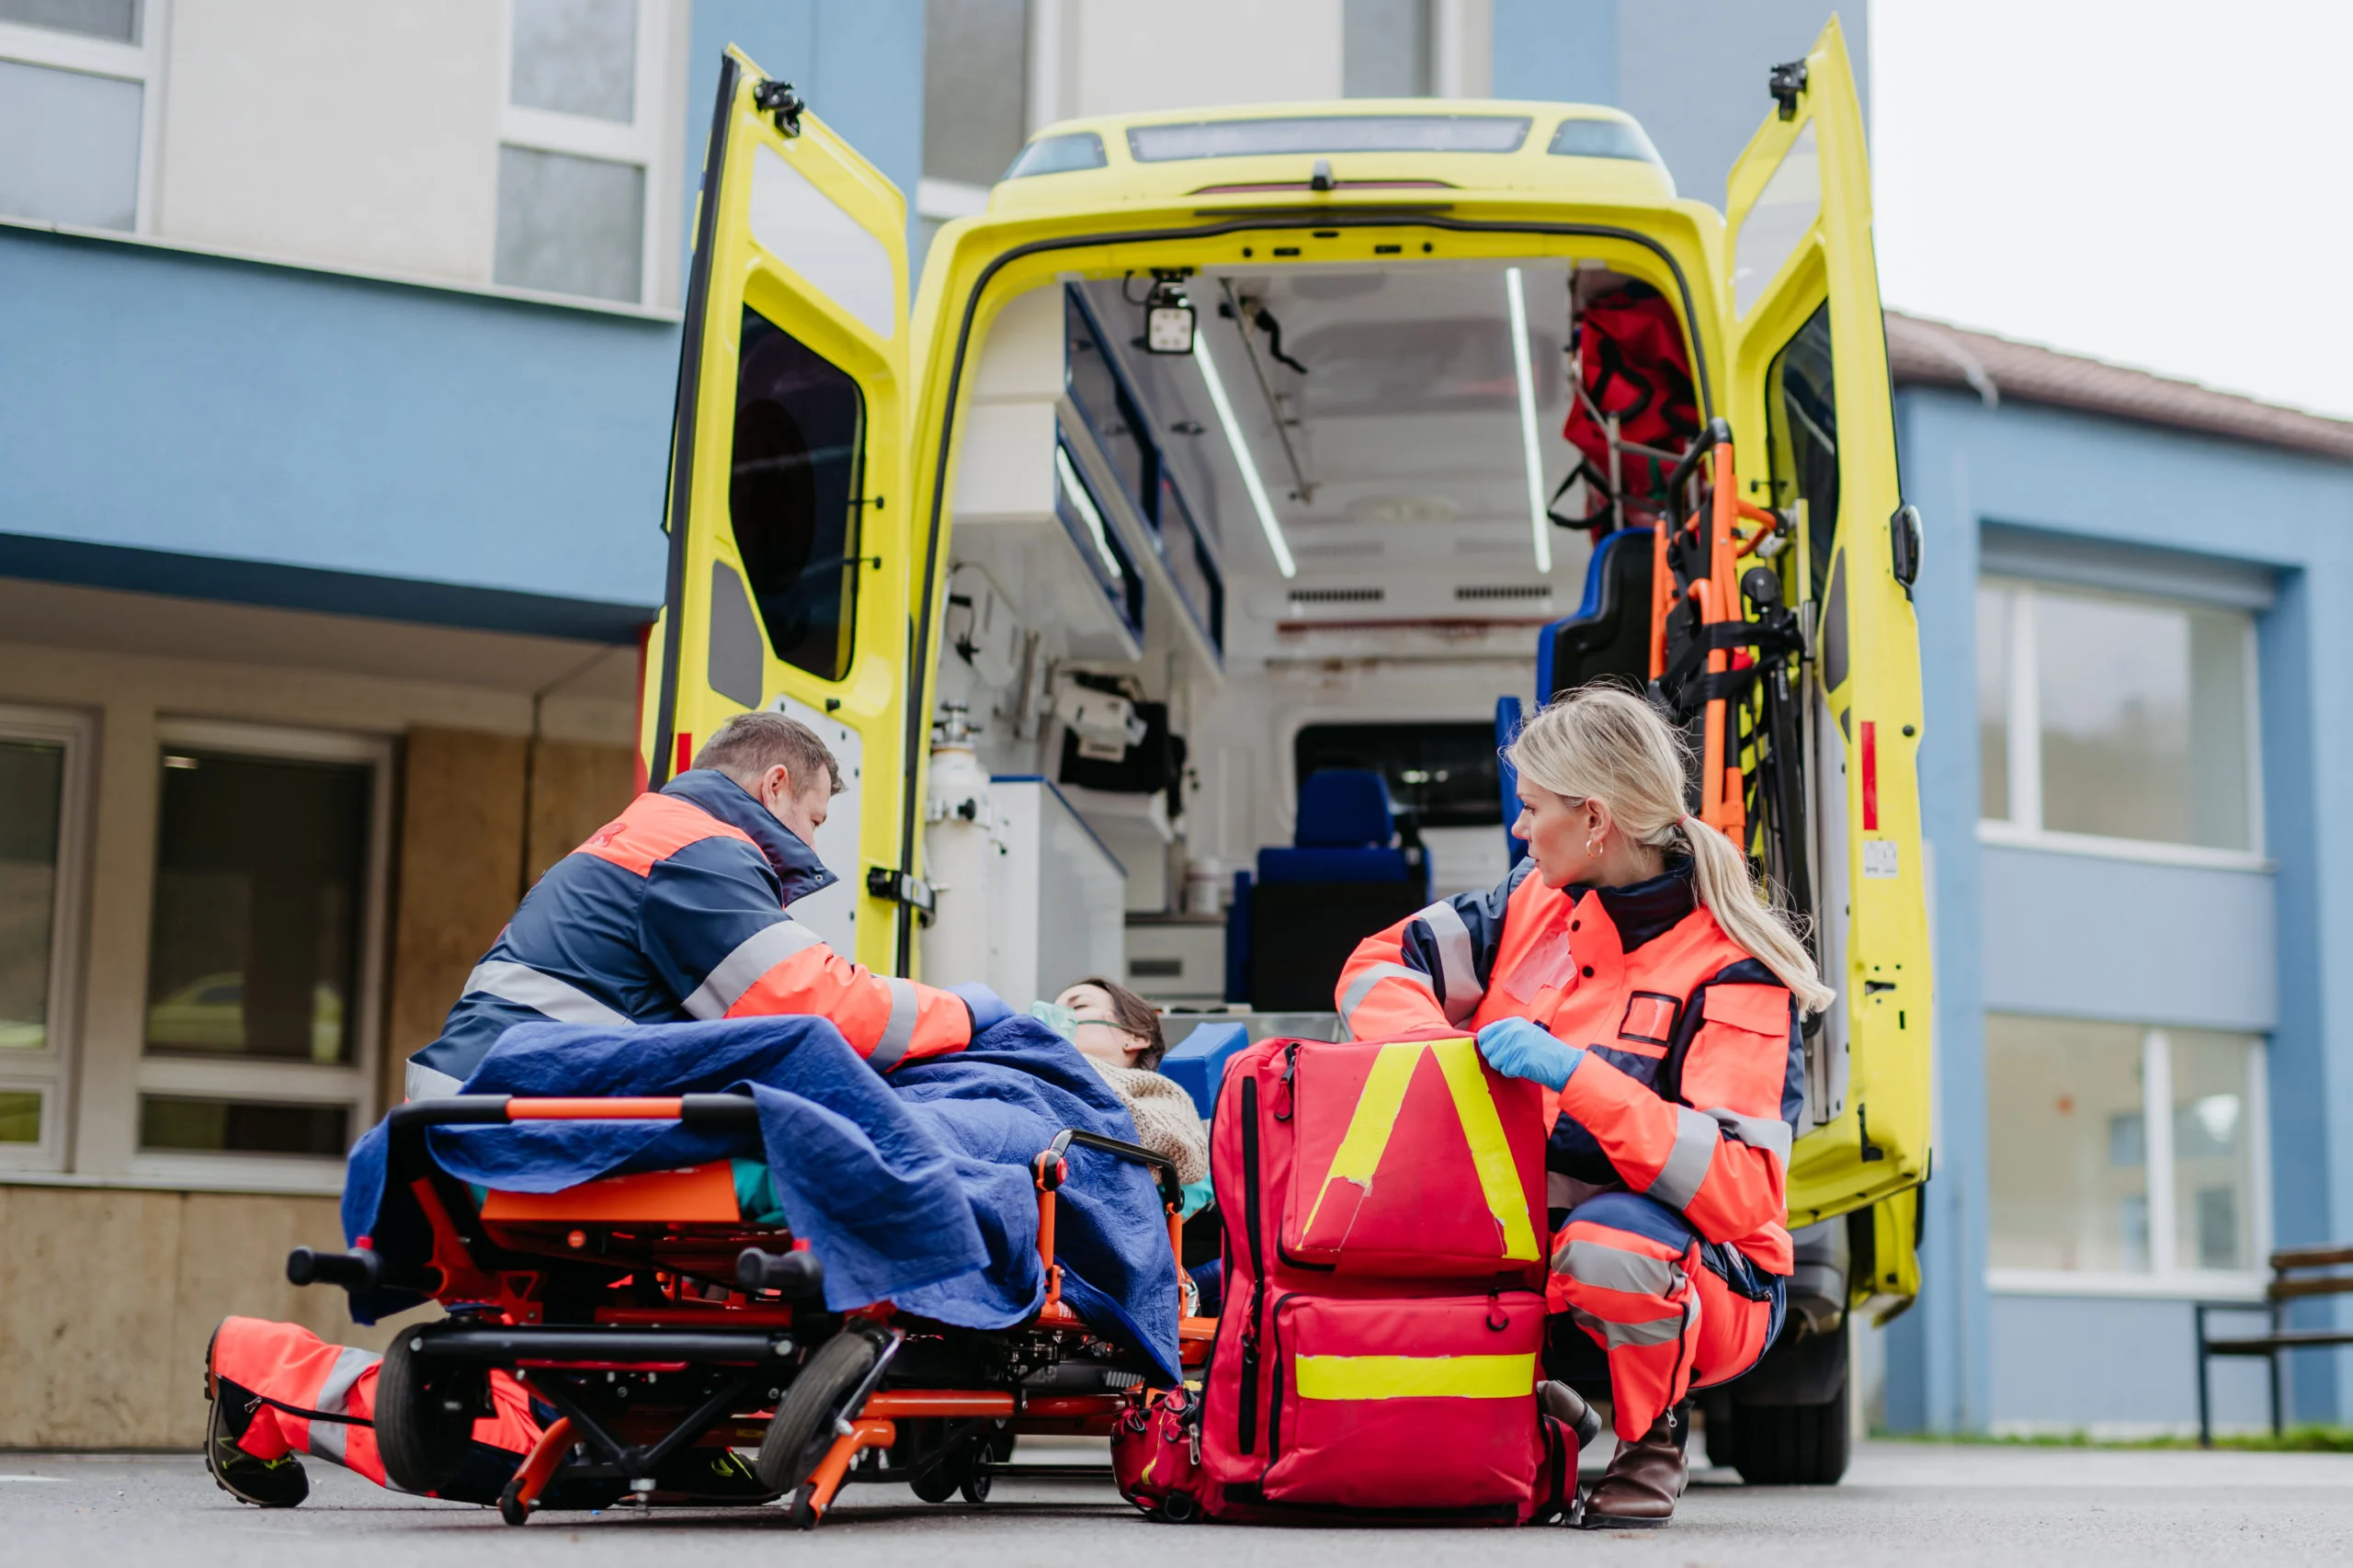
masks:
[[[238,1448],[256,1460],[301,1453],[391,1486],[376,1457],[376,1363],[384,1356],[327,1344],[296,1323],[224,1318],[212,1340],[212,1398],[224,1403]],[[489,1375],[496,1415],[473,1424],[466,1469],[435,1497],[496,1502],[499,1488],[539,1441],[532,1396],[506,1373]]]

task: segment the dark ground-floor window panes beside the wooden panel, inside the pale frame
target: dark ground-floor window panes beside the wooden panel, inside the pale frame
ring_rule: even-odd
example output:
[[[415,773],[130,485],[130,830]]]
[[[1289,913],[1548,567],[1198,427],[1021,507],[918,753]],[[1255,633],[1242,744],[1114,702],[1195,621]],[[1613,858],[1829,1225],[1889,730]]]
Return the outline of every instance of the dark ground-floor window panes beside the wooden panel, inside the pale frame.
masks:
[[[141,1163],[341,1158],[372,1111],[379,742],[165,725]]]

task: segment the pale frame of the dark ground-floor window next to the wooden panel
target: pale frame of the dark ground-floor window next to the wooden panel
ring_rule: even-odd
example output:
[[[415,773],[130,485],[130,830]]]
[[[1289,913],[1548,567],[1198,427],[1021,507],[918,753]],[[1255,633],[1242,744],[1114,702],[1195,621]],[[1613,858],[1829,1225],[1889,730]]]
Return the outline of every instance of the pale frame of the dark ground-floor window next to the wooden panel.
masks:
[[[348,1104],[351,1137],[358,1142],[376,1121],[379,1057],[384,1052],[386,946],[391,932],[391,838],[393,838],[393,742],[376,735],[339,730],[292,730],[209,718],[162,718],[155,725],[153,765],[172,749],[228,751],[254,758],[304,763],[362,763],[372,772],[367,796],[367,869],[360,904],[360,977],[353,996],[353,1059],[341,1067],[318,1062],[238,1062],[179,1055],[151,1055],[141,1036],[129,1097],[120,1114],[129,1118],[129,1177],[158,1187],[247,1187],[268,1191],[341,1191],[344,1158],[304,1154],[205,1154],[193,1149],[151,1151],[139,1147],[139,1116],[146,1095],[191,1095],[200,1099],[261,1099],[278,1104]],[[155,796],[158,817],[162,793]],[[155,841],[155,857],[162,838]],[[153,876],[153,864],[148,866]],[[148,939],[153,944],[153,937]],[[153,946],[146,963],[153,965]],[[139,984],[146,986],[146,970]]]

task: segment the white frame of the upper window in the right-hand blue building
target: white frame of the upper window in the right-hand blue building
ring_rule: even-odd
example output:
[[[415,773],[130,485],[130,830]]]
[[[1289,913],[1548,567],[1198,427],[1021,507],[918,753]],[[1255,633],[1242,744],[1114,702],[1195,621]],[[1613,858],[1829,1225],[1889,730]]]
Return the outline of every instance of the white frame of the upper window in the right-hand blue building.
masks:
[[[2137,859],[2165,866],[2212,866],[2226,871],[2268,871],[2271,855],[2264,831],[2264,713],[2261,713],[2261,636],[2257,612],[2235,605],[2214,605],[2165,593],[2139,593],[2129,589],[2099,589],[2073,582],[2045,582],[2014,577],[2007,572],[1981,572],[1977,591],[2000,589],[2009,593],[2009,647],[2005,650],[2007,690],[2002,695],[2002,725],[2007,744],[2007,791],[2009,815],[1977,819],[1977,841],[2017,850],[2049,850],[2059,855],[2094,855],[2104,859]],[[2179,610],[2231,610],[2247,617],[2245,652],[2240,659],[2242,723],[2247,727],[2247,843],[2245,850],[2219,850],[2195,843],[2167,843],[2162,838],[2111,838],[2106,833],[2064,833],[2042,826],[2042,669],[2033,605],[2042,593],[2073,598],[2111,598],[2137,605]],[[1984,812],[1984,800],[1979,800]]]

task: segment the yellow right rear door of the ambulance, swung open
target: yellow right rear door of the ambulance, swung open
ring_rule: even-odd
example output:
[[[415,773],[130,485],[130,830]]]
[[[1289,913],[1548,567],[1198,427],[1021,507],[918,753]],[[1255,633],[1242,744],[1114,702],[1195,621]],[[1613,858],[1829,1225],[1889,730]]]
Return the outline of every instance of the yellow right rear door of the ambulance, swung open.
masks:
[[[1772,92],[1732,167],[1722,290],[1744,490],[1802,511],[1779,563],[1809,643],[1817,951],[1840,994],[1807,1041],[1788,1184],[1791,1222],[1807,1224],[1918,1184],[1929,1158],[1918,520],[1897,485],[1871,167],[1835,19]],[[1913,1198],[1889,1208],[1908,1220]],[[1911,1236],[1889,1241],[1901,1262],[1873,1283],[1908,1295]]]

